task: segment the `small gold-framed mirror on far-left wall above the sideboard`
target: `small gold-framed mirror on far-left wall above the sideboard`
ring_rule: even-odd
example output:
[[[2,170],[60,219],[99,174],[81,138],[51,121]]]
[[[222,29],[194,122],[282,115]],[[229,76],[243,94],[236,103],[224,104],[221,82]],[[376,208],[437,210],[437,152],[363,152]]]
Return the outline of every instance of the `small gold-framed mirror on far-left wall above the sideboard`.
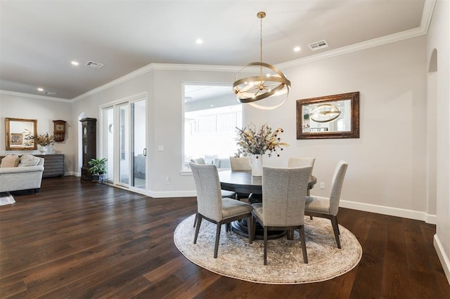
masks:
[[[5,118],[6,150],[37,150],[33,140],[27,136],[36,135],[37,119]]]

